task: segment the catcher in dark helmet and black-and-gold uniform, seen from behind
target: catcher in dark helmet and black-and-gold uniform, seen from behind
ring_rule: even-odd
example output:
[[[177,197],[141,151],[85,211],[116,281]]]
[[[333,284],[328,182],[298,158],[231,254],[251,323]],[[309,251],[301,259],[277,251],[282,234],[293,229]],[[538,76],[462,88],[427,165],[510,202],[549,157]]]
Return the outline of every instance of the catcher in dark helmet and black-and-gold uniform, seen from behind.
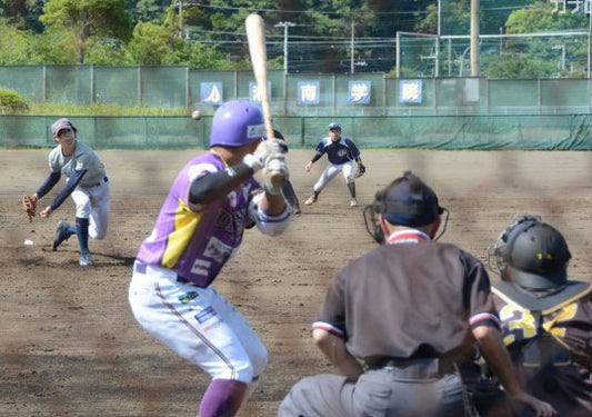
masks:
[[[503,340],[528,391],[558,416],[591,416],[592,286],[568,279],[564,237],[526,215],[501,234],[491,255],[502,278],[493,300]]]

